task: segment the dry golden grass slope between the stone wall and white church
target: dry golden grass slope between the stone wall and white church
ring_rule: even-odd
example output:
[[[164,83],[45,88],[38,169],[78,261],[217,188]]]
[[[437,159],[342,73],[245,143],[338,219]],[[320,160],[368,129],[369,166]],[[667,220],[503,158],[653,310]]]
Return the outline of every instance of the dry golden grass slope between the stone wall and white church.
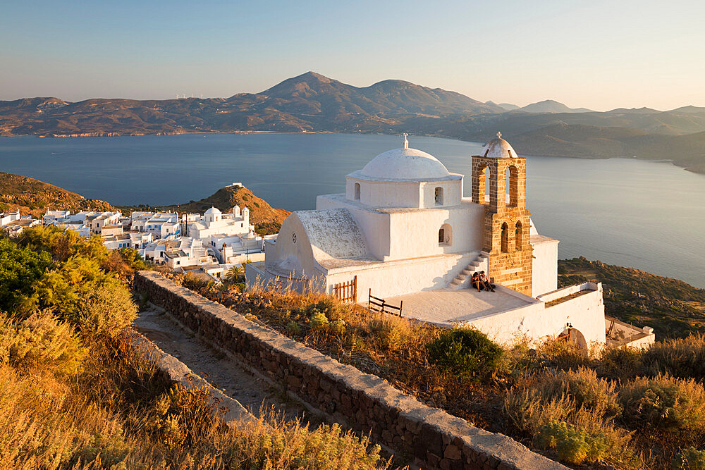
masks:
[[[527,338],[517,338],[496,374],[476,381],[429,364],[426,345],[439,337],[437,328],[371,314],[312,289],[298,294],[293,287],[291,281],[274,290],[204,287],[200,293],[476,426],[534,448],[550,447],[548,452],[563,462],[664,467],[682,445],[705,445],[702,438],[679,441],[658,430],[627,426],[620,394],[631,382],[620,385],[617,380],[653,375],[666,366],[698,373],[692,357],[699,357],[705,344],[701,338],[666,342],[646,352],[611,348],[588,353],[565,340],[548,339],[534,347]]]

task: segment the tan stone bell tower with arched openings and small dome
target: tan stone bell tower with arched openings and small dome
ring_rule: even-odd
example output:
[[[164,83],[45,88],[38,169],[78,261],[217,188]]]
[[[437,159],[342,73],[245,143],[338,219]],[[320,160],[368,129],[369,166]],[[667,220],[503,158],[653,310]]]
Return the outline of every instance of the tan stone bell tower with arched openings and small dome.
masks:
[[[527,161],[501,135],[497,132],[482,155],[472,156],[472,201],[485,206],[482,250],[489,257],[487,277],[530,296],[534,249],[526,208]]]

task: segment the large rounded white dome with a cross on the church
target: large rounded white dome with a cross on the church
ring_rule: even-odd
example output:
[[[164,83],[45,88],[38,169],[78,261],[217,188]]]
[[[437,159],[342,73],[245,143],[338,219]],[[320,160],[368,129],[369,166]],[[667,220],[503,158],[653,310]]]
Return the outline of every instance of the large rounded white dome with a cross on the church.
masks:
[[[435,156],[409,148],[393,149],[377,155],[360,173],[380,180],[434,180],[450,175]]]

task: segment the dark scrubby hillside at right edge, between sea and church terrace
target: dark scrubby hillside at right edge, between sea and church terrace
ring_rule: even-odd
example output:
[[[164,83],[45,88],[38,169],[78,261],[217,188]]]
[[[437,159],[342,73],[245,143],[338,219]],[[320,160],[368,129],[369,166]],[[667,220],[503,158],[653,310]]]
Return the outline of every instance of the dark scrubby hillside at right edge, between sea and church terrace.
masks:
[[[604,283],[606,314],[651,326],[659,340],[705,333],[705,289],[582,256],[558,261],[559,287],[586,280]]]

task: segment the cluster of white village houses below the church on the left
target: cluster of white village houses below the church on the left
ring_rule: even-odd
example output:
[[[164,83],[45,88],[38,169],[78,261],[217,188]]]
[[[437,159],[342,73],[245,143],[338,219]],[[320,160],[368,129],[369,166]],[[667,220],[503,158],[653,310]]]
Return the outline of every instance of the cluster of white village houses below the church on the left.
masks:
[[[250,224],[247,207],[233,206],[229,214],[215,207],[204,214],[49,210],[41,219],[20,216],[19,211],[0,214],[0,227],[10,237],[36,225],[75,230],[82,237],[98,235],[109,250],[135,249],[145,261],[206,281],[219,282],[233,266],[264,260],[264,239]]]

